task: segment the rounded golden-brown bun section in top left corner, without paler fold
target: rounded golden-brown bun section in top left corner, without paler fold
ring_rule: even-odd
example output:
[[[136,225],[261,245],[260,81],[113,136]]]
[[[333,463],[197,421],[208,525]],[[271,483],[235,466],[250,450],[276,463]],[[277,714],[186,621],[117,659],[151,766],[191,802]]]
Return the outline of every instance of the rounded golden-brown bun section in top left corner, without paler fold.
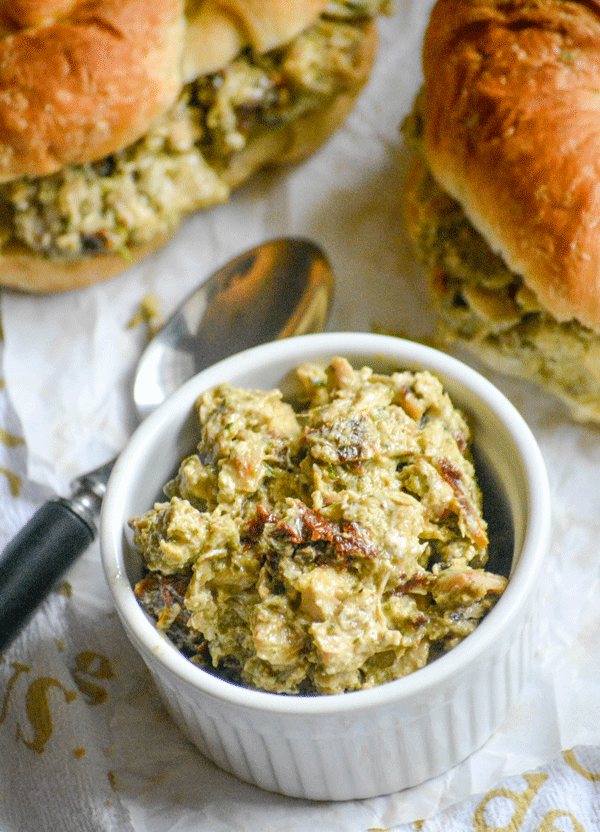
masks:
[[[7,0],[0,10],[9,28],[0,39],[0,181],[119,150],[181,89],[181,0]]]

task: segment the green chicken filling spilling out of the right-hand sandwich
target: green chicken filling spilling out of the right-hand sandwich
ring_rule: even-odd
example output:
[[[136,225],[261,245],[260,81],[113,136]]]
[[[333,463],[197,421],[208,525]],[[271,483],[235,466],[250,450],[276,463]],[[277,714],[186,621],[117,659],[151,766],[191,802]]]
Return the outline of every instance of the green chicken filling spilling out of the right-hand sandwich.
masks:
[[[422,152],[417,99],[403,133],[417,152],[409,186],[409,230],[426,265],[442,337],[501,372],[558,395],[577,419],[600,419],[600,335],[558,321],[538,302],[436,182]]]

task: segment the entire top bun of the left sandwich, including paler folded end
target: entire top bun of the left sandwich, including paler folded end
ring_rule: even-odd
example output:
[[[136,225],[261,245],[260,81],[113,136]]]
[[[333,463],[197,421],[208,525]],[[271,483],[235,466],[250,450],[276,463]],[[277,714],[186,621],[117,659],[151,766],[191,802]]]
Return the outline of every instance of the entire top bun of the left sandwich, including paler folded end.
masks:
[[[324,0],[0,0],[0,181],[140,138],[182,84],[291,39]]]

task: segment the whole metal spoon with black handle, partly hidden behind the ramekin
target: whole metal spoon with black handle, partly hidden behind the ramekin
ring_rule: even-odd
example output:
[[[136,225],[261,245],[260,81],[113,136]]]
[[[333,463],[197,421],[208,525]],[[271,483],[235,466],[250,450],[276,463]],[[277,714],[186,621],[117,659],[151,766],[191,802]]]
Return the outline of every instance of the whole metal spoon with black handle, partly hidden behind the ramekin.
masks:
[[[333,273],[312,242],[282,238],[239,255],[196,289],[142,354],[133,400],[141,419],[205,367],[256,344],[318,332]],[[112,460],[45,503],[0,555],[0,651],[94,540]]]

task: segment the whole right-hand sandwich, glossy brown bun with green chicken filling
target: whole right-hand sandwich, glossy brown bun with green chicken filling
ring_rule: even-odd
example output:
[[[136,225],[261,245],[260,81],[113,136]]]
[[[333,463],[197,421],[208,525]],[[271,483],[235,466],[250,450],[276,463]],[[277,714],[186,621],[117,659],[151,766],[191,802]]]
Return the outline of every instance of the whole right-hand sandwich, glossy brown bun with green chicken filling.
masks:
[[[444,344],[600,422],[600,6],[437,0],[408,232]]]

